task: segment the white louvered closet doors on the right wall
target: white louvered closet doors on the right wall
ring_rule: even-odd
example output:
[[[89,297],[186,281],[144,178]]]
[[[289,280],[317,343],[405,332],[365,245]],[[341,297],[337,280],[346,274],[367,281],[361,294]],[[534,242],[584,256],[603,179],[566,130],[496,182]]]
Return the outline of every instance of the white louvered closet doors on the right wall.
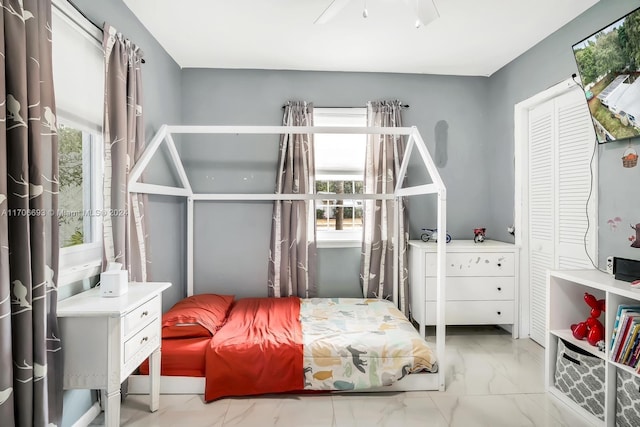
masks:
[[[595,259],[595,194],[587,206],[594,144],[591,117],[579,88],[529,111],[530,336],[541,345],[546,336],[547,269],[592,268],[585,233],[586,247]]]

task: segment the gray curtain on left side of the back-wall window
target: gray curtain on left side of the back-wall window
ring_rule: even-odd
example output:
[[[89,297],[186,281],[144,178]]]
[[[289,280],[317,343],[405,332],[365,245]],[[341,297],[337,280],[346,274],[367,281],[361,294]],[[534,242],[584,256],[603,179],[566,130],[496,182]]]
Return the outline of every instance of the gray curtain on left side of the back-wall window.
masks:
[[[283,126],[313,126],[313,104],[288,102]],[[276,194],[315,193],[312,134],[280,137]],[[311,200],[273,203],[269,249],[268,293],[271,297],[314,297],[316,289],[316,228]]]

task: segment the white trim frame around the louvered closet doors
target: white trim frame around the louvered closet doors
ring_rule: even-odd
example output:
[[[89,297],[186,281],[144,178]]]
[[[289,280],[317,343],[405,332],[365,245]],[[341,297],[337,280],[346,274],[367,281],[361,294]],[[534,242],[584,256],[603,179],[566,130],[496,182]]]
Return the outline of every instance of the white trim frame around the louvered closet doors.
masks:
[[[576,90],[578,84],[573,78],[568,78],[542,92],[517,103],[514,107],[514,225],[515,245],[520,248],[520,277],[519,277],[519,336],[530,335],[531,300],[529,286],[529,110],[537,105],[556,98],[570,90]],[[594,183],[591,197],[596,203],[597,215],[597,161],[593,162]],[[597,227],[594,218],[592,227]],[[597,259],[597,232],[593,234]]]

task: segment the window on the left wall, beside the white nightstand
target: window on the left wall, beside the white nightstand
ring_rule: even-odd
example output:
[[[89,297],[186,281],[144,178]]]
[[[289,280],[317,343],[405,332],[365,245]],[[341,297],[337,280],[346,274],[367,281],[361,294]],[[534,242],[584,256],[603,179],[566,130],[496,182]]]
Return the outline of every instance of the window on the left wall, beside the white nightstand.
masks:
[[[66,0],[52,7],[60,193],[59,285],[89,278],[102,262],[102,34]]]

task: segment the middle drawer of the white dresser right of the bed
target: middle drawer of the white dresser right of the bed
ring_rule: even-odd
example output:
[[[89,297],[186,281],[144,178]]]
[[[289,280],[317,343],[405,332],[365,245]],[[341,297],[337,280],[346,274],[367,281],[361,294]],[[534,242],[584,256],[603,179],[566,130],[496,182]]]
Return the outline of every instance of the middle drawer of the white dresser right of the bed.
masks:
[[[436,278],[427,277],[427,301],[436,300]],[[513,300],[513,277],[447,277],[447,301]]]

